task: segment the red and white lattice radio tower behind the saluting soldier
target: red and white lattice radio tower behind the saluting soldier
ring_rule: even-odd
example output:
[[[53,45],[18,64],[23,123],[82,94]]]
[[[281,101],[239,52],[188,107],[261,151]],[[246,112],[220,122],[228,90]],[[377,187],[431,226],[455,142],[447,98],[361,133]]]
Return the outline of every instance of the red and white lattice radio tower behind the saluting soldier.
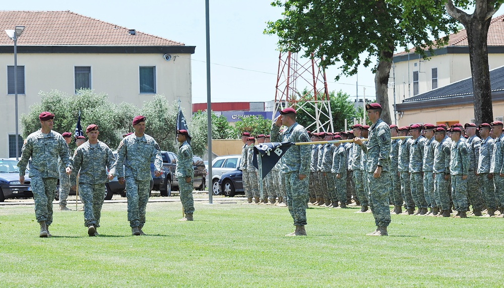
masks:
[[[298,59],[298,53],[280,52],[273,118],[276,112],[284,107],[307,112],[306,107],[311,106],[315,113],[307,113],[313,122],[305,127],[306,130],[334,131],[326,72],[319,64],[320,59],[314,59],[313,53],[310,59]],[[321,116],[329,120],[322,123]]]

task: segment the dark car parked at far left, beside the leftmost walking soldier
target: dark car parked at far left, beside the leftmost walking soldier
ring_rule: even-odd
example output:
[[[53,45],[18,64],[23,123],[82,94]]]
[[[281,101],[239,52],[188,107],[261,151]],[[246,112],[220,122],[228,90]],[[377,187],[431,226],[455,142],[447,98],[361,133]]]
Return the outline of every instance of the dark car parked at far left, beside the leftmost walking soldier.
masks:
[[[17,164],[16,160],[0,158],[0,202],[4,202],[7,198],[33,197],[28,169],[25,183],[21,184]]]

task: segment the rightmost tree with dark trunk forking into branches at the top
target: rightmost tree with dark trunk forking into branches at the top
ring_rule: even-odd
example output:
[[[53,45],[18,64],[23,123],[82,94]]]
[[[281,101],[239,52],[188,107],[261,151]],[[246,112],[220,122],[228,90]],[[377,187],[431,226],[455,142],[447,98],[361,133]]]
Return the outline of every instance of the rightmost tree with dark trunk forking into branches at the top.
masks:
[[[466,28],[476,124],[493,121],[487,37],[492,15],[497,12],[503,2],[502,0],[447,0],[445,3],[448,14]],[[456,5],[461,9],[455,7]],[[472,14],[463,11],[471,7],[474,7]]]

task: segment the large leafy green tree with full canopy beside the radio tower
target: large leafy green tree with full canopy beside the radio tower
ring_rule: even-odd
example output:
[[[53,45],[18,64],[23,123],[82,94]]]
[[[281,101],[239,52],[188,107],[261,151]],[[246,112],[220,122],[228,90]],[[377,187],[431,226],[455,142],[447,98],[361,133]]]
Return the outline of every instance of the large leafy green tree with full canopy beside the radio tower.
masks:
[[[356,74],[359,65],[368,67],[377,58],[372,69],[376,101],[384,107],[387,123],[387,84],[396,47],[413,44],[415,52],[425,56],[425,49],[432,52],[434,45],[445,45],[448,37],[442,36],[457,29],[446,17],[444,1],[276,0],[272,5],[285,8],[282,19],[268,22],[265,30],[278,35],[280,50],[304,49],[305,57],[313,52],[323,68],[340,64],[344,75]]]

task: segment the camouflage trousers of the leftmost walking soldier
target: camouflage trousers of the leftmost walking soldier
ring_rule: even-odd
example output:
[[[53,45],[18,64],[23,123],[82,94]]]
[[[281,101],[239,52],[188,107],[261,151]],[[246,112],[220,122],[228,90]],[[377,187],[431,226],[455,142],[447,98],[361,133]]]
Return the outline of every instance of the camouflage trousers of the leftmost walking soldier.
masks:
[[[33,201],[35,202],[35,218],[37,222],[52,223],[52,200],[56,194],[57,178],[31,177]]]

